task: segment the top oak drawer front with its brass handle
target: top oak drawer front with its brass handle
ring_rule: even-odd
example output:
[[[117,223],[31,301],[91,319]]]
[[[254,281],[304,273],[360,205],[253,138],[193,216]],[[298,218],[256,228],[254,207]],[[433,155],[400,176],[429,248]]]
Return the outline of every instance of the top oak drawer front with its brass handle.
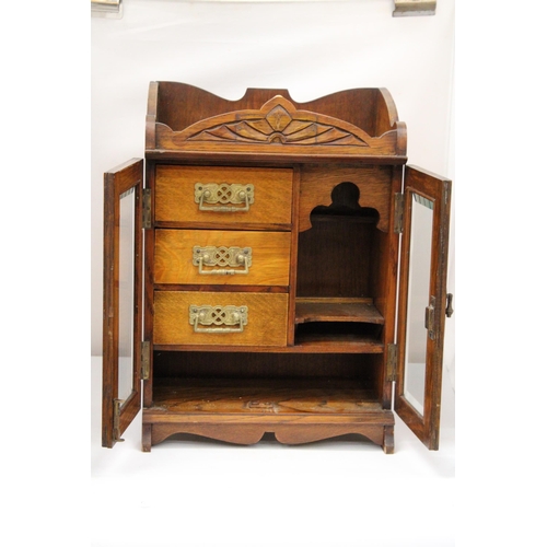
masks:
[[[292,170],[158,165],[155,220],[291,224]]]

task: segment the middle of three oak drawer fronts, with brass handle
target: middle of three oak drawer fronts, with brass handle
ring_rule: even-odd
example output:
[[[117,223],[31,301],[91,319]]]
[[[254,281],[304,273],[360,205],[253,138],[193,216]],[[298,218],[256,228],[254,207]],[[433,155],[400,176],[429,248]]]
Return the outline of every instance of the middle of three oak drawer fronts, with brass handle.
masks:
[[[156,230],[154,282],[289,284],[290,232]]]

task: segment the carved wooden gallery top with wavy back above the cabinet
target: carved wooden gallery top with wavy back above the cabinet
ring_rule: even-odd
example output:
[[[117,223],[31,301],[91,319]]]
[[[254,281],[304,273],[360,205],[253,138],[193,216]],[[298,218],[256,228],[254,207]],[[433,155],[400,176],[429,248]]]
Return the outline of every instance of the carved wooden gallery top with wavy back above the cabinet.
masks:
[[[185,83],[151,82],[147,159],[405,163],[406,125],[385,89],[298,103],[287,90],[229,101]]]

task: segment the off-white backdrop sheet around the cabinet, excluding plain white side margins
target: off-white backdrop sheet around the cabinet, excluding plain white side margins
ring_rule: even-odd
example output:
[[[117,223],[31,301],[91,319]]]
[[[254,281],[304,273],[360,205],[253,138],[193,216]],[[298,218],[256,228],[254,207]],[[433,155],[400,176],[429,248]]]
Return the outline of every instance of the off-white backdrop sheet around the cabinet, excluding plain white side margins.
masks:
[[[284,88],[301,102],[387,88],[408,127],[410,163],[455,178],[454,2],[439,0],[434,16],[396,19],[393,0],[124,0],[123,19],[92,19],[92,356],[101,354],[103,172],[142,158],[150,81],[232,100],[247,88]],[[125,443],[101,449],[92,358],[92,545],[452,546],[454,324],[455,315],[446,322],[441,450],[427,451],[396,418],[394,456],[351,442],[240,450],[206,441],[166,442],[150,455],[140,452],[139,418]],[[407,492],[412,501],[399,503]]]

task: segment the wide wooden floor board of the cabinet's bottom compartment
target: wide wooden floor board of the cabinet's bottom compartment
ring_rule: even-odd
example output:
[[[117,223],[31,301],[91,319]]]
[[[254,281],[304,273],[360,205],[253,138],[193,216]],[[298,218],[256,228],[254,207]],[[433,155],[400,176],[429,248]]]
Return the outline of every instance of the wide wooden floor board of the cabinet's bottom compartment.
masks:
[[[359,414],[380,411],[372,389],[356,379],[162,379],[154,408],[172,412]]]

